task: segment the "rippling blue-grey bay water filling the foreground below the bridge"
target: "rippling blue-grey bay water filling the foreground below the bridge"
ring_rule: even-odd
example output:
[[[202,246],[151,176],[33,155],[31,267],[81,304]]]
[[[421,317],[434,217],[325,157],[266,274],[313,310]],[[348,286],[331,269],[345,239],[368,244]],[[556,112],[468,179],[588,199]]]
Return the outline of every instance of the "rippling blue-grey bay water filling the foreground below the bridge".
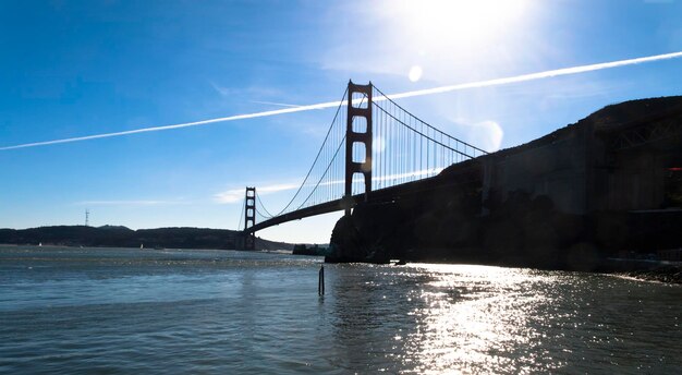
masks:
[[[682,373],[682,288],[467,265],[0,246],[0,373]]]

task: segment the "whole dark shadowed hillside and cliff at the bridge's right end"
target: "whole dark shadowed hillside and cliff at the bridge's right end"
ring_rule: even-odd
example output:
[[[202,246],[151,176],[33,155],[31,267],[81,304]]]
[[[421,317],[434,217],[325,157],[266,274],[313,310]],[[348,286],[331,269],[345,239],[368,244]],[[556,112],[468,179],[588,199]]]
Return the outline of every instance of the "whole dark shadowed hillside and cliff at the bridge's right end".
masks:
[[[453,165],[418,194],[360,204],[337,223],[327,261],[596,270],[624,250],[679,247],[681,133],[682,97],[606,107]]]

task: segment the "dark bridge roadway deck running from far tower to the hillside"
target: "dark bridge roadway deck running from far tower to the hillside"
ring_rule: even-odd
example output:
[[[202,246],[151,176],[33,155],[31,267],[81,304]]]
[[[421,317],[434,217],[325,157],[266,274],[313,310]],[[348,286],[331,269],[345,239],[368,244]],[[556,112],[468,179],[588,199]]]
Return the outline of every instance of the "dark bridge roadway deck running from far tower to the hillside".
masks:
[[[479,183],[480,180],[478,179],[482,176],[480,174],[482,167],[478,162],[472,164],[471,161],[474,161],[474,160],[468,160],[468,162],[461,162],[458,165],[453,165],[450,168],[448,168],[446,171],[441,172],[440,174],[437,174],[427,179],[405,182],[399,185],[393,185],[390,188],[383,188],[380,190],[372,191],[369,193],[367,201],[374,204],[388,203],[388,202],[394,202],[398,199],[403,199],[415,194],[429,194],[429,193],[433,193],[434,191],[452,188],[455,185],[461,185],[463,183],[472,182],[473,180],[476,180]],[[473,179],[470,174],[472,171],[474,171],[473,174],[476,176]],[[365,201],[364,193],[353,196],[354,205],[357,205],[364,201]],[[278,226],[283,222],[300,220],[306,217],[329,214],[329,213],[343,210],[343,209],[345,209],[345,207],[343,205],[342,199],[320,203],[314,206],[301,208],[299,210],[295,210],[289,214],[282,214],[280,216],[276,216],[273,218],[264,220],[261,222],[258,222],[245,229],[244,232],[253,233],[258,230]]]

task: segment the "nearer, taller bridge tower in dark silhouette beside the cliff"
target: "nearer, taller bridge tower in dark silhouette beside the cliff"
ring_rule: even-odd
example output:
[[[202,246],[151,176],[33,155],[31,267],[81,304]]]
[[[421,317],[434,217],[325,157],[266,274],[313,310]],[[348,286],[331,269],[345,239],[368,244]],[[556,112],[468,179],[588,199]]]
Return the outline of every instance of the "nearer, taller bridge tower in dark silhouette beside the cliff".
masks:
[[[355,95],[354,95],[355,94]],[[357,95],[360,94],[360,95]],[[365,180],[365,202],[372,192],[372,82],[367,85],[356,85],[349,81],[348,116],[345,128],[345,216],[351,215],[353,196],[353,176],[361,173]],[[361,129],[362,119],[366,128]],[[355,126],[353,126],[355,124]],[[353,148],[364,145],[363,160],[353,160]]]

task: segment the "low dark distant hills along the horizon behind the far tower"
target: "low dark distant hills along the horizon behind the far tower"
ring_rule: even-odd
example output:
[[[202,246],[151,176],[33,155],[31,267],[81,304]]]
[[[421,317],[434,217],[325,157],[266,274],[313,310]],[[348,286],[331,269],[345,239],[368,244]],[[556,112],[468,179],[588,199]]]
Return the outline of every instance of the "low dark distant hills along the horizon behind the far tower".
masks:
[[[132,230],[121,226],[54,226],[0,229],[0,243],[64,246],[236,249],[239,232],[209,228],[157,228]],[[256,238],[257,250],[293,250],[293,244]]]

